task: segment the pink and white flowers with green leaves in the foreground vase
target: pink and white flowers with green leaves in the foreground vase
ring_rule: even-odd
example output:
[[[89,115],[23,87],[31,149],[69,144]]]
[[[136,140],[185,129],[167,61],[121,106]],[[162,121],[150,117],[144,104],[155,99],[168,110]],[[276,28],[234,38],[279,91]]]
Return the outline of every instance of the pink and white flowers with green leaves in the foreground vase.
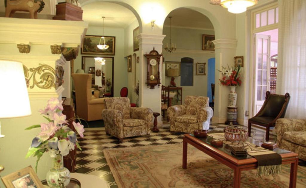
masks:
[[[44,110],[39,110],[43,117],[48,121],[40,125],[32,125],[25,130],[32,128],[39,128],[40,133],[32,140],[31,147],[26,154],[28,157],[37,157],[35,170],[37,172],[37,164],[41,156],[45,152],[49,152],[50,157],[55,157],[60,154],[66,156],[70,150],[74,150],[77,146],[80,150],[80,145],[76,139],[76,132],[83,138],[84,126],[80,123],[72,122],[76,132],[67,126],[66,116],[62,114],[63,110],[62,101],[57,98],[48,100],[47,107]]]

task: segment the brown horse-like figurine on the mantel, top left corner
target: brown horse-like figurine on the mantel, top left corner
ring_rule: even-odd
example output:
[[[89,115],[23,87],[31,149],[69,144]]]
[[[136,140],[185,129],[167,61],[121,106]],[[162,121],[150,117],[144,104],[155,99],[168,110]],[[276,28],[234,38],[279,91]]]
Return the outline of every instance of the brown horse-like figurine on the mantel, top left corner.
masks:
[[[37,19],[37,13],[43,10],[43,0],[4,0],[5,17],[12,17],[16,11],[30,13],[30,18]]]

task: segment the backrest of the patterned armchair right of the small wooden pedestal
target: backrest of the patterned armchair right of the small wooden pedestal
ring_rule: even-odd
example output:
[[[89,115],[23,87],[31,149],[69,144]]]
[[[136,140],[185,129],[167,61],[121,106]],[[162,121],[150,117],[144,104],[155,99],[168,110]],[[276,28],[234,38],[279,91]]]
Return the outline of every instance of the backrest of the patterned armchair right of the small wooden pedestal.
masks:
[[[187,115],[198,115],[200,108],[208,107],[209,98],[204,96],[187,96],[184,101]]]

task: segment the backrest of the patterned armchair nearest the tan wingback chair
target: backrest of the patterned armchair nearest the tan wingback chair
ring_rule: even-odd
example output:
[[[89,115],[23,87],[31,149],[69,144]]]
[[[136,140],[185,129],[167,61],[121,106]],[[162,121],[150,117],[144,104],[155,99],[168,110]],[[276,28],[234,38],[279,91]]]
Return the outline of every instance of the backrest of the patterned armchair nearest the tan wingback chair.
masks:
[[[123,113],[123,119],[130,119],[130,99],[127,97],[110,97],[105,99],[106,109],[119,110]]]

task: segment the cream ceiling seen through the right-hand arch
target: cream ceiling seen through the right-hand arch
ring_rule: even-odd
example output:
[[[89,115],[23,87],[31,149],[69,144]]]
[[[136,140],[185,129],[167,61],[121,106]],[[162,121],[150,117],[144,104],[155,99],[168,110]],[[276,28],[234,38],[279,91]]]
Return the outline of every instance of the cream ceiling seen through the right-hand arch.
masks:
[[[197,11],[187,9],[187,8],[179,8],[175,9],[167,16],[164,25],[170,25],[169,16],[172,16],[171,25],[174,27],[187,27],[194,29],[209,29],[213,30],[214,27],[206,16]]]

